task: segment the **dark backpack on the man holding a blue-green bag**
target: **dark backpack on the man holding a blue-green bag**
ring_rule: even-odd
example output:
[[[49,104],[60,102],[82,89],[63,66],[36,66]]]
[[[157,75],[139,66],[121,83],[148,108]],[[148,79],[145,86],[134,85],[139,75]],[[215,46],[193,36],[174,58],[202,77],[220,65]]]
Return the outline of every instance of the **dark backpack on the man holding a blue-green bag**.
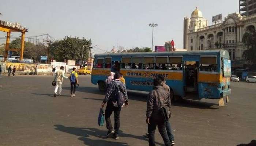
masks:
[[[120,85],[117,85],[116,82],[113,81],[113,85],[115,89],[113,93],[112,103],[114,107],[121,108],[124,106],[124,102],[125,102],[123,83],[121,82]]]

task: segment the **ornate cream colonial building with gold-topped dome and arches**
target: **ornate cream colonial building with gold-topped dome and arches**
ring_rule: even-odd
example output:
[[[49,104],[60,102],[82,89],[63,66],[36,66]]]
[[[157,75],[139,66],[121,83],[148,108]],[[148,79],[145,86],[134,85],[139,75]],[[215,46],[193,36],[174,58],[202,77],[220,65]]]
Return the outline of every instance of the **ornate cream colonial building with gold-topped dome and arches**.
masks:
[[[226,49],[235,67],[245,66],[242,54],[245,47],[242,37],[246,31],[255,30],[256,14],[241,16],[239,13],[227,15],[222,23],[208,26],[207,19],[196,8],[191,18],[184,19],[183,47],[191,50]],[[233,64],[234,65],[234,64]],[[233,66],[232,65],[232,66]]]

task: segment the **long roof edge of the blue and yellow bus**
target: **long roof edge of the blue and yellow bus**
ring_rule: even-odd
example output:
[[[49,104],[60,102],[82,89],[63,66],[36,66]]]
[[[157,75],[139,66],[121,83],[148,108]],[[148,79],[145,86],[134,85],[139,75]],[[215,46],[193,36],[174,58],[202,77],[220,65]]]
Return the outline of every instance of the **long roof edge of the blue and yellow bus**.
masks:
[[[201,51],[178,51],[178,52],[136,52],[136,53],[103,53],[95,54],[94,57],[114,57],[114,56],[151,56],[151,55],[221,55],[224,58],[229,58],[227,50],[201,50]]]

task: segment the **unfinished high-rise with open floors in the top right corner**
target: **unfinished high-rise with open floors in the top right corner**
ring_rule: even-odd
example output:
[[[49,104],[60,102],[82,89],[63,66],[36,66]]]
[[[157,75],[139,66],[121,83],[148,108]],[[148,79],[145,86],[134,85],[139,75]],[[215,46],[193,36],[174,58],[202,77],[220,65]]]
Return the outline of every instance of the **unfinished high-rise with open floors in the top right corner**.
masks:
[[[242,16],[256,14],[256,0],[239,0],[239,13]]]

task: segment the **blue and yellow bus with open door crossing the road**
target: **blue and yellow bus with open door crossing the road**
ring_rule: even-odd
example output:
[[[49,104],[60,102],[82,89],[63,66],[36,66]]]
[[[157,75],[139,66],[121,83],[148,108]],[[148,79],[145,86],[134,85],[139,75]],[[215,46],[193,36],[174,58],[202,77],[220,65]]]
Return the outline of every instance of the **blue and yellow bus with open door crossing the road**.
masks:
[[[151,91],[153,79],[162,74],[170,87],[170,97],[201,100],[218,99],[231,93],[231,65],[226,50],[105,53],[95,54],[91,82],[105,91],[110,72],[123,74],[127,89]]]

